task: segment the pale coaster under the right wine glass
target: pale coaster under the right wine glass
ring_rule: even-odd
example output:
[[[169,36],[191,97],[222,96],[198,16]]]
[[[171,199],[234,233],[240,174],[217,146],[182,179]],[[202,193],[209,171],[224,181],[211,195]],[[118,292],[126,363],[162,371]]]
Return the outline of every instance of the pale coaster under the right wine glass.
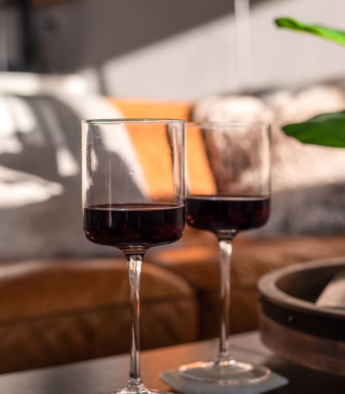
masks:
[[[181,394],[259,394],[289,383],[286,378],[272,371],[262,382],[241,386],[220,386],[198,382],[180,376],[177,369],[165,371],[159,375],[159,378]]]

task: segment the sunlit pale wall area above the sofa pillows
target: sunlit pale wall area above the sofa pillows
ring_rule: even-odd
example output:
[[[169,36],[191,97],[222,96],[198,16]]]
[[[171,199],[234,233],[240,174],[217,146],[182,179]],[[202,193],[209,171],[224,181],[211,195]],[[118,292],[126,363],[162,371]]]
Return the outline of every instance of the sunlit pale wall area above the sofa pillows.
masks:
[[[278,16],[291,16],[345,30],[344,15],[344,0],[275,0],[253,7],[253,87],[344,75],[345,48],[273,24]],[[198,99],[237,88],[234,56],[234,20],[228,15],[110,59],[101,70],[108,92],[118,97]]]

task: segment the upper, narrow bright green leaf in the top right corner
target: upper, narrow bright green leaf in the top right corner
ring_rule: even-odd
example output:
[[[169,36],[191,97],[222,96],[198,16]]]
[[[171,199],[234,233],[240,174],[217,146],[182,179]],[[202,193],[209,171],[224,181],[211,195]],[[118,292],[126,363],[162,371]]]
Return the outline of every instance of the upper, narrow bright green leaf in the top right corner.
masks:
[[[276,25],[280,28],[287,28],[319,35],[323,38],[345,45],[345,32],[320,25],[305,25],[304,23],[292,18],[277,18]]]

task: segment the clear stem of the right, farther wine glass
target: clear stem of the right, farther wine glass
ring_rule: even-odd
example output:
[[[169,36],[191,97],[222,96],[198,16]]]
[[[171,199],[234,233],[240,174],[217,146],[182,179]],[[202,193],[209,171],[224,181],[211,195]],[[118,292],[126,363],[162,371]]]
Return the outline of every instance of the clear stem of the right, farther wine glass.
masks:
[[[220,239],[220,335],[219,354],[216,362],[231,361],[229,351],[229,313],[230,313],[230,261],[232,239]]]

